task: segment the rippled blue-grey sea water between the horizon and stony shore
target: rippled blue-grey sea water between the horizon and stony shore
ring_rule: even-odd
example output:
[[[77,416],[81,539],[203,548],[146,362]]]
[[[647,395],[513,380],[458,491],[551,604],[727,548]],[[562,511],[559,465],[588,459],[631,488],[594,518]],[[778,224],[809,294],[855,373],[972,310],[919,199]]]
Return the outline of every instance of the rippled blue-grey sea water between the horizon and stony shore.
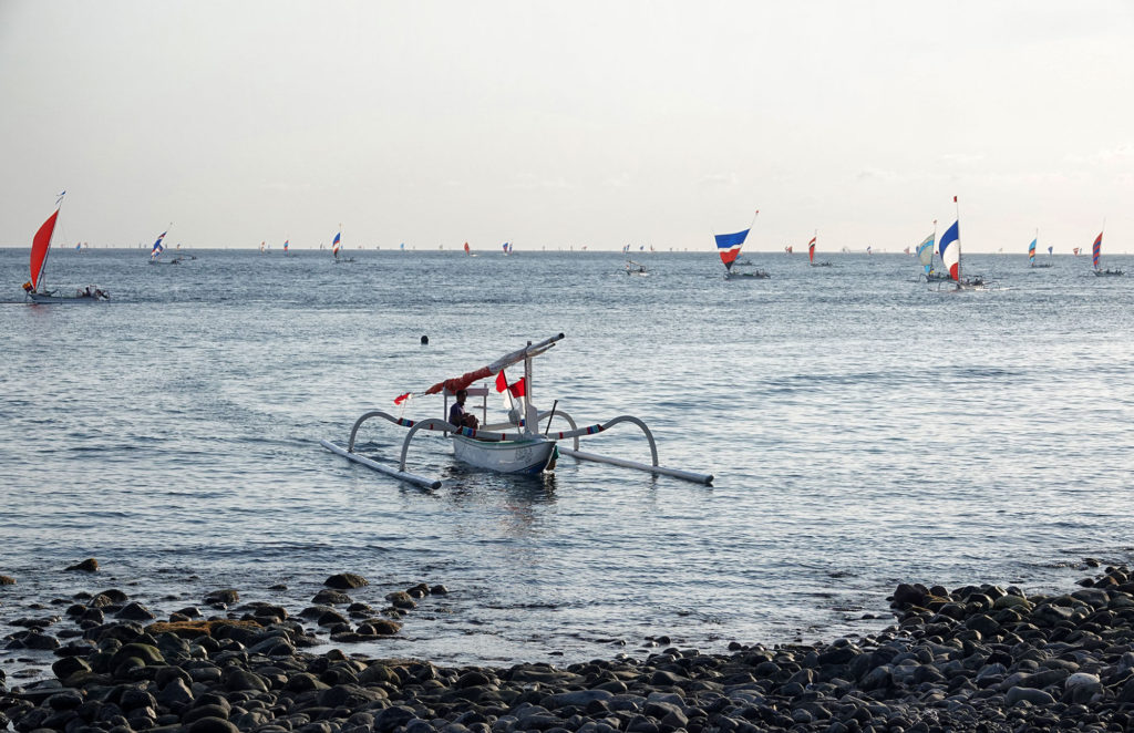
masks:
[[[1084,557],[1131,559],[1134,279],[1088,258],[968,256],[1004,289],[942,295],[895,254],[755,253],[772,273],[756,281],[723,280],[710,251],[640,255],[644,278],[601,253],[146,254],[52,254],[49,281],[109,304],[0,305],[0,573],[19,581],[0,637],[27,614],[16,592],[121,587],[168,614],[236,588],[298,612],[350,571],[376,606],[451,591],[352,649],[575,662],[657,634],[721,650],[866,633],[899,581],[1066,589]],[[12,301],[26,259],[0,250]],[[413,470],[445,480],[428,491],[319,445],[560,331],[536,402],[581,424],[638,415],[663,464],[712,487],[570,458],[542,480],[477,473],[423,438]],[[401,438],[361,436],[389,460]],[[649,456],[621,428],[584,449]],[[88,556],[98,576],[60,572]]]

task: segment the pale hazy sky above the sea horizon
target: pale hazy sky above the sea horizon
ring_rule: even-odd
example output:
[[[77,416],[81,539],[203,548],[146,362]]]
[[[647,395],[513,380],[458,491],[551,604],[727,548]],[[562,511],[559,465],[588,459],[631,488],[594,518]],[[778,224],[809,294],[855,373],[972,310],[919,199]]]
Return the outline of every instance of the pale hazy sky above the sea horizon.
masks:
[[[6,246],[1134,248],[1131,0],[0,0],[0,100]]]

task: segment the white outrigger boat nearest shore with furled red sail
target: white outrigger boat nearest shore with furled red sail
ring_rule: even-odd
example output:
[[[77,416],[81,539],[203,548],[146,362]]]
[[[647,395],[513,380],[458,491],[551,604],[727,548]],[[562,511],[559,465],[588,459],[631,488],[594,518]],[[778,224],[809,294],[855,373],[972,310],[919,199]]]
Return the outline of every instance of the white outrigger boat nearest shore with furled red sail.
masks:
[[[556,401],[555,404],[552,404],[551,410],[547,412],[538,410],[532,403],[532,360],[540,354],[545,353],[562,338],[564,335],[559,334],[536,344],[528,343],[524,348],[505,354],[485,366],[466,372],[460,377],[446,379],[445,381],[440,381],[429,389],[425,389],[422,393],[423,395],[442,394],[445,396],[443,414],[446,418],[428,418],[425,420],[415,421],[396,418],[381,410],[372,410],[355,421],[354,427],[350,429],[350,439],[346,447],[331,443],[330,440],[321,440],[320,443],[328,450],[349,458],[355,463],[359,463],[381,473],[392,475],[403,481],[434,489],[441,486],[439,480],[406,471],[406,455],[409,452],[409,443],[421,430],[446,433],[452,440],[452,452],[458,461],[477,469],[485,469],[500,473],[538,474],[544,471],[550,471],[555,467],[557,457],[562,454],[583,461],[609,463],[611,465],[618,465],[627,469],[637,469],[640,471],[671,475],[687,481],[695,481],[697,483],[708,485],[712,482],[713,477],[710,473],[696,473],[658,465],[658,446],[654,443],[653,433],[650,432],[650,428],[637,418],[632,415],[620,415],[603,423],[595,423],[579,428],[569,414],[557,408],[559,404],[558,401]],[[524,364],[524,377],[515,384],[508,385],[503,370],[507,366],[518,363]],[[449,422],[447,419],[449,416],[449,397],[455,396],[460,390],[464,390],[468,394],[468,396],[483,396],[486,402],[489,389],[486,387],[473,387],[473,385],[482,379],[489,379],[493,376],[496,376],[496,386],[498,391],[508,390],[509,395],[515,397],[518,402],[518,406],[517,402],[513,403],[514,406],[513,410],[509,411],[508,422],[479,426],[476,428],[455,426]],[[403,404],[412,397],[413,393],[406,393],[404,395],[399,395],[395,399],[395,403]],[[482,410],[484,411],[484,415],[486,418],[486,407],[482,407]],[[398,427],[407,428],[409,430],[401,444],[401,457],[396,467],[380,463],[355,452],[355,440],[358,437],[358,429],[367,420],[372,420],[374,418],[387,420]],[[552,432],[551,421],[556,418],[566,421],[570,429]],[[543,432],[540,432],[540,423],[544,420],[547,421],[544,423],[544,430]],[[635,461],[627,461],[625,458],[585,453],[578,449],[579,438],[604,432],[606,430],[609,430],[620,423],[635,424],[642,429],[642,432],[645,435],[645,438],[650,444],[652,463],[638,463]],[[568,439],[573,440],[573,447],[570,448],[558,444],[560,440]]]

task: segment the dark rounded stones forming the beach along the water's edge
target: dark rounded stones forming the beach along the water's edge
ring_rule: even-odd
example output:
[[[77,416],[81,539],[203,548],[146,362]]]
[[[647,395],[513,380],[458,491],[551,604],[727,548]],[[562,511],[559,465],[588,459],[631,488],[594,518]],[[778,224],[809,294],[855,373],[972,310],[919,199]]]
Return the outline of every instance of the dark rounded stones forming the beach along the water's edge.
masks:
[[[2,579],[3,576],[0,576]],[[8,579],[11,580],[11,579]],[[666,648],[643,659],[443,667],[332,649],[398,631],[416,585],[375,612],[328,579],[297,616],[235,590],[158,622],[117,590],[11,620],[7,649],[50,649],[56,679],[0,669],[0,730],[311,733],[1122,731],[1134,727],[1134,576],[1100,568],[1063,595],[900,584],[897,622],[830,643]],[[112,617],[108,621],[108,617]],[[662,642],[665,643],[665,641]]]

